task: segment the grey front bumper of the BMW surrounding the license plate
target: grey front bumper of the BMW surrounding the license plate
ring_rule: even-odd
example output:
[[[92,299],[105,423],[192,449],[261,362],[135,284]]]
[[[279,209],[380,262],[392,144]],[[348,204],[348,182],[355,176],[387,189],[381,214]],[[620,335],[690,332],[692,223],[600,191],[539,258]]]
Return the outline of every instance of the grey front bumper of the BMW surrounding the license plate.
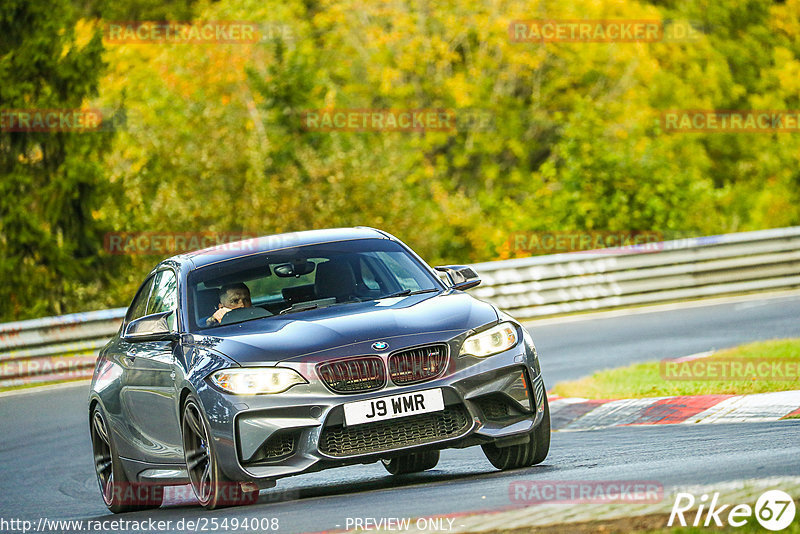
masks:
[[[451,365],[443,376],[411,386],[336,394],[309,378],[313,365],[284,362],[281,367],[294,368],[309,384],[258,396],[200,388],[221,468],[231,480],[267,487],[277,478],[413,451],[526,441],[545,401],[535,348],[520,341],[487,358],[457,357],[453,350],[461,340],[447,341]],[[442,390],[443,411],[345,425],[348,402],[434,388]]]

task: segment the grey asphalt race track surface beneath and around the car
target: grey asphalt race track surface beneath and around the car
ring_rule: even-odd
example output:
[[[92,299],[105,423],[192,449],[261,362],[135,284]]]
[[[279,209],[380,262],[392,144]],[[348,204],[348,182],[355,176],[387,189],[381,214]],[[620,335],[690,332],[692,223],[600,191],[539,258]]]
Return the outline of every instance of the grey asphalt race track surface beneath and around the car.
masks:
[[[634,361],[800,337],[800,296],[533,324],[548,385]],[[553,435],[540,466],[496,471],[480,448],[444,451],[436,469],[392,478],[378,464],[278,481],[257,504],[206,512],[191,503],[112,516],[92,467],[87,387],[0,398],[4,518],[277,518],[280,532],[344,530],[347,518],[420,517],[509,507],[517,480],[655,480],[665,488],[800,476],[800,420],[627,427]],[[458,524],[458,519],[456,519]]]

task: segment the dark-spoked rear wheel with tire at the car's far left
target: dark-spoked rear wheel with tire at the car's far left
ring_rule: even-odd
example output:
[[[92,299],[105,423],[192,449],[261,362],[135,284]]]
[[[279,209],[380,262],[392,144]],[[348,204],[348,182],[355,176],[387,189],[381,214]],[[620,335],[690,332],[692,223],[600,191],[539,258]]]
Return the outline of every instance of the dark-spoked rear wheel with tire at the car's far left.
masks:
[[[95,474],[106,507],[119,514],[161,506],[163,486],[128,480],[111,439],[106,416],[99,406],[92,409],[90,417]]]

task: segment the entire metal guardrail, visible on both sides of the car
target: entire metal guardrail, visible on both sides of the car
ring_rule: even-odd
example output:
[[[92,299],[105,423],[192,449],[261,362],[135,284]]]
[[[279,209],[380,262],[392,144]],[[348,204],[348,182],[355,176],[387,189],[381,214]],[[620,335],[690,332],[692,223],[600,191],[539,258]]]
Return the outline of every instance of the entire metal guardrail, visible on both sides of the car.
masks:
[[[800,227],[473,265],[518,319],[800,287]],[[0,324],[0,387],[89,377],[125,308]]]

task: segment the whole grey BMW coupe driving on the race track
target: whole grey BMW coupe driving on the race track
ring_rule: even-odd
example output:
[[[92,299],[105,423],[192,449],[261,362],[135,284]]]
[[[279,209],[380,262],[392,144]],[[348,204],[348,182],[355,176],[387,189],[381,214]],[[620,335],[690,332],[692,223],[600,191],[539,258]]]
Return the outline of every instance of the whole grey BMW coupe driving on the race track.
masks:
[[[382,462],[433,468],[480,445],[498,469],[542,462],[550,414],[533,340],[372,228],[281,234],[162,261],[100,351],[89,396],[112,512],[191,483],[212,509],[282,477]]]

